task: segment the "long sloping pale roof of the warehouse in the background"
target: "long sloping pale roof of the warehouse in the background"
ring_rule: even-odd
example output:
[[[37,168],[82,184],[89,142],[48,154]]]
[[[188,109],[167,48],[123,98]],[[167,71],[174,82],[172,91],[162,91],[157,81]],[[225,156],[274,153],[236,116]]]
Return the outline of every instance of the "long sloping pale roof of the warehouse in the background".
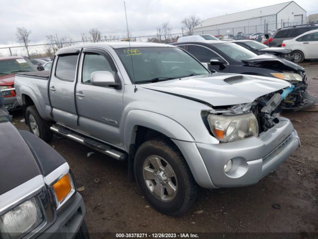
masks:
[[[223,24],[223,23],[228,23],[233,21],[255,18],[255,17],[259,17],[260,15],[262,16],[274,15],[280,12],[283,8],[285,8],[287,5],[289,5],[292,2],[294,1],[287,1],[287,2],[278,3],[274,5],[263,6],[263,7],[259,7],[255,9],[231,13],[231,14],[227,14],[223,16],[208,18],[204,20],[201,24],[195,26],[194,29],[205,27],[205,26],[218,25],[218,24]]]

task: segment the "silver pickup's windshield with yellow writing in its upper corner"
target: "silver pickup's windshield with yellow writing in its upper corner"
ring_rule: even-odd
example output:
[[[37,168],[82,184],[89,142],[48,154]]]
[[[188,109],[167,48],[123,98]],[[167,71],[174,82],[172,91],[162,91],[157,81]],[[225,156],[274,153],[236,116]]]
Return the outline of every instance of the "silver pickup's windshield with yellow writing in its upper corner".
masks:
[[[196,59],[177,47],[134,47],[115,51],[131,81],[135,83],[210,73]]]

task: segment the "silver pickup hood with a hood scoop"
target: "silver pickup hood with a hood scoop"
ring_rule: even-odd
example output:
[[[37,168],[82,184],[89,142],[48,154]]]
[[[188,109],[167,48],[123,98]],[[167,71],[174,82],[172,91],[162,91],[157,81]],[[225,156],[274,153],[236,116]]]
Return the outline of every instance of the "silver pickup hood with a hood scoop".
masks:
[[[271,77],[213,73],[140,86],[212,106],[229,106],[251,103],[258,97],[291,85]]]

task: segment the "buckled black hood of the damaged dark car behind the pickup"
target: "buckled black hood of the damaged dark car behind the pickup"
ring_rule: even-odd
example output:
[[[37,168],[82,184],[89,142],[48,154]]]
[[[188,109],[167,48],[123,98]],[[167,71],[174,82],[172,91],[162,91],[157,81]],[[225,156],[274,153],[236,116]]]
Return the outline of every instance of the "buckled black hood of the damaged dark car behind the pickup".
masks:
[[[305,69],[294,62],[271,54],[262,54],[247,60],[242,60],[248,66],[271,69],[274,71],[305,72]]]

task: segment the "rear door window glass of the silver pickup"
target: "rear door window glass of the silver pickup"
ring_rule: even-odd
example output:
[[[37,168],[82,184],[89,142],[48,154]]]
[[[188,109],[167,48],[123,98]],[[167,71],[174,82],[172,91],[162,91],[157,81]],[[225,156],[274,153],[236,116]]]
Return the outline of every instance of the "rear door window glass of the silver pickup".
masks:
[[[74,81],[79,54],[60,55],[55,76],[65,81]]]

